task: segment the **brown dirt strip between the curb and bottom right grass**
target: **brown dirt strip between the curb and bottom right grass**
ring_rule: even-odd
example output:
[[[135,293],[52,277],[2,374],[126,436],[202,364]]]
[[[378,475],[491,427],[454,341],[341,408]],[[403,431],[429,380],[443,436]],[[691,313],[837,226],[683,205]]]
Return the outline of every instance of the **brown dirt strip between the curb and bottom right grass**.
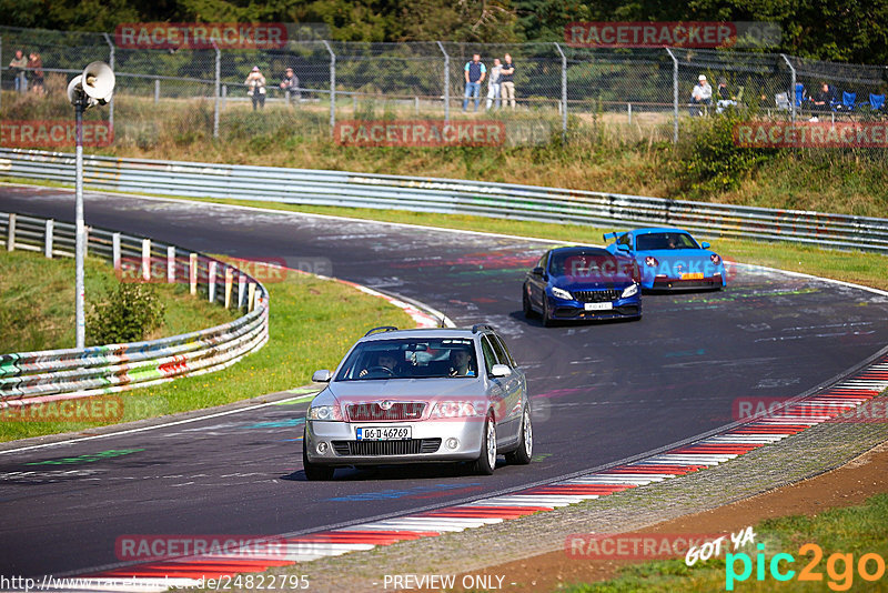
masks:
[[[888,442],[849,463],[770,492],[712,511],[685,515],[646,527],[633,534],[727,533],[737,532],[765,519],[784,515],[817,515],[828,509],[861,504],[874,494],[888,492]],[[552,591],[559,584],[604,581],[618,567],[643,561],[589,560],[572,557],[567,551],[551,552],[490,566],[490,574],[504,574],[517,583],[508,591]],[[461,582],[462,575],[456,579]]]

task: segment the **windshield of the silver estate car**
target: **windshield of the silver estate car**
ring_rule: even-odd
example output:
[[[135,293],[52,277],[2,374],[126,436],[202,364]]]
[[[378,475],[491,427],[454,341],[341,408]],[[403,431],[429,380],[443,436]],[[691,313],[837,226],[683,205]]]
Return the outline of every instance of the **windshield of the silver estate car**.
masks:
[[[477,369],[471,339],[373,340],[352,350],[336,381],[466,378]]]

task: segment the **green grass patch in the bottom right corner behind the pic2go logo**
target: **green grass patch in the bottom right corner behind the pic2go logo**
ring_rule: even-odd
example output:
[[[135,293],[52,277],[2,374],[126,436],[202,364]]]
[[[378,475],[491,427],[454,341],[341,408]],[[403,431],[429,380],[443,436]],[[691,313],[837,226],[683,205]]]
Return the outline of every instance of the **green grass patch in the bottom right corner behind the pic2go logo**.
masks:
[[[765,544],[764,579],[757,580],[756,554],[751,546],[738,551],[750,556],[753,572],[744,582],[735,582],[734,591],[885,591],[886,576],[867,582],[858,572],[858,562],[864,554],[878,554],[888,559],[888,494],[877,494],[859,506],[834,509],[815,516],[784,516],[769,519],[754,527],[756,542]],[[728,542],[729,543],[729,542]],[[813,562],[814,555],[799,553],[806,543],[820,546],[823,557],[813,566],[820,574],[819,582],[800,582],[799,572]],[[770,560],[777,553],[790,554],[795,562],[788,565],[780,561],[779,570],[794,570],[795,576],[787,582],[776,581],[770,573]],[[851,554],[849,566],[844,561],[833,560],[833,554]],[[877,571],[877,562],[869,560],[866,570]],[[830,572],[831,566],[831,572]],[[697,562],[687,566],[684,559],[647,562],[625,566],[618,576],[598,583],[582,583],[559,587],[565,593],[628,593],[635,591],[725,591],[726,562],[722,557]],[[743,572],[740,561],[734,563],[736,573]],[[831,583],[831,584],[830,584]]]

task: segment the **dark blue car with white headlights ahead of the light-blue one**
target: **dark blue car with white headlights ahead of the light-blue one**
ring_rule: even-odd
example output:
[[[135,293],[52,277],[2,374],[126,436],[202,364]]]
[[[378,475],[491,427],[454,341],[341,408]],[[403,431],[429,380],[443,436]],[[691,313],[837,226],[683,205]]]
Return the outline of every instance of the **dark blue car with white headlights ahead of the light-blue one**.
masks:
[[[623,253],[592,247],[552,249],[527,272],[524,315],[557,320],[642,319],[638,265]]]

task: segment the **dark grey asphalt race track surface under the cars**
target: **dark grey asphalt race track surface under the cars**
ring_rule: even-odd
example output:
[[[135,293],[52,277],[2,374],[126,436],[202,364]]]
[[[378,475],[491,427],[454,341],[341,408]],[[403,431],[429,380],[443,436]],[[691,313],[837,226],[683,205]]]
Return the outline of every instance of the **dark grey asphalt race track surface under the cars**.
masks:
[[[73,193],[4,187],[0,210],[71,221]],[[544,329],[524,319],[519,299],[543,242],[90,192],[85,212],[88,224],[284,258],[421,300],[461,325],[493,324],[527,372],[535,463],[490,478],[339,470],[333,482],[309,483],[306,403],[3,453],[7,575],[118,564],[114,544],[127,534],[316,531],[517,489],[715,429],[738,398],[797,395],[888,343],[888,298],[766,270],[738,269],[724,292],[645,295],[640,322]]]

